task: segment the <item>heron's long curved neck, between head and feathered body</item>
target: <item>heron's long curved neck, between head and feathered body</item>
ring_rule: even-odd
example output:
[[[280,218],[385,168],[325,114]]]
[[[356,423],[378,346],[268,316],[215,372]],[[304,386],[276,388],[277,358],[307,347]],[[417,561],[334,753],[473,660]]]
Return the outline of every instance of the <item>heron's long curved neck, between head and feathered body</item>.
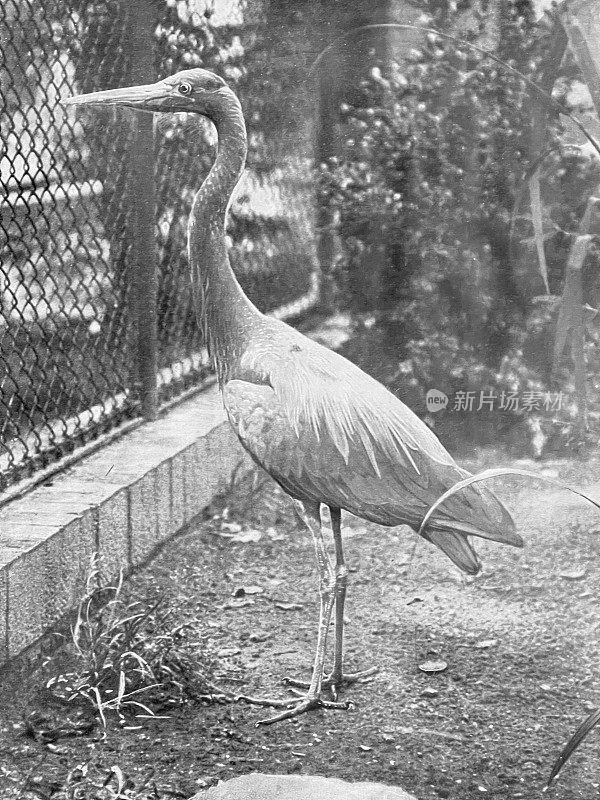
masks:
[[[196,311],[207,335],[219,382],[223,383],[261,315],[231,269],[225,239],[227,209],[247,152],[244,117],[233,92],[219,98],[210,118],[217,129],[218,153],[194,198],[188,245]]]

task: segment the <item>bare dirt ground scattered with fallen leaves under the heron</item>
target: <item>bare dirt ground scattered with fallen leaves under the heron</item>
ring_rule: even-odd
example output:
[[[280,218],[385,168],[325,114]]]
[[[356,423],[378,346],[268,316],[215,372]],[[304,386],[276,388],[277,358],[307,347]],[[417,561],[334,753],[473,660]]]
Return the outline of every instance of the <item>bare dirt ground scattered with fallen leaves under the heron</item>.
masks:
[[[498,461],[487,454],[466,466]],[[519,466],[600,497],[598,461]],[[260,771],[381,781],[419,800],[541,797],[562,745],[600,704],[600,514],[523,479],[494,486],[525,548],[477,542],[485,566],[474,579],[405,529],[346,516],[347,665],[380,670],[346,690],[350,710],[257,728],[268,709],[192,703],[137,729],[109,720],[103,740],[96,726],[49,747],[22,722],[44,710],[39,675],[13,669],[0,695],[0,796],[187,798]],[[236,541],[240,529],[254,541]],[[283,676],[308,677],[318,611],[312,542],[271,482],[238,486],[135,581],[179,598],[224,686],[284,697]],[[432,659],[447,668],[419,669]],[[599,735],[547,797],[600,796]],[[65,788],[69,773],[80,794]],[[94,794],[92,779],[102,775],[109,788],[122,776],[121,795]]]

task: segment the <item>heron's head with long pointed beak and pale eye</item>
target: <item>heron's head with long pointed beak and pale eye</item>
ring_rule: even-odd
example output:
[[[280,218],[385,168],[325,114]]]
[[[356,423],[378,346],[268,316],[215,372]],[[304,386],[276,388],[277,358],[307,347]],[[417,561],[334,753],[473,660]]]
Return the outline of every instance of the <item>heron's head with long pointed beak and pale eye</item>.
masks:
[[[210,116],[225,97],[235,95],[214,72],[187,69],[157,83],[79,94],[66,98],[63,103],[68,106],[127,106],[138,111],[191,111]]]

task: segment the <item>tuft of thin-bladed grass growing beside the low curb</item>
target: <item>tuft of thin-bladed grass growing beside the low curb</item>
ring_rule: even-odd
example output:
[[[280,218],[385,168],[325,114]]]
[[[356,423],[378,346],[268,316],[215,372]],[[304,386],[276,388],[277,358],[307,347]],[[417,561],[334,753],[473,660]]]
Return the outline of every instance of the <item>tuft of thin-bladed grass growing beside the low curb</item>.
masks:
[[[58,668],[47,687],[58,698],[91,704],[106,725],[114,712],[121,721],[155,716],[157,710],[214,696],[209,675],[213,664],[192,622],[169,608],[164,596],[131,596],[122,577],[98,587],[94,558],[71,641],[69,666]],[[61,654],[61,662],[65,653]]]

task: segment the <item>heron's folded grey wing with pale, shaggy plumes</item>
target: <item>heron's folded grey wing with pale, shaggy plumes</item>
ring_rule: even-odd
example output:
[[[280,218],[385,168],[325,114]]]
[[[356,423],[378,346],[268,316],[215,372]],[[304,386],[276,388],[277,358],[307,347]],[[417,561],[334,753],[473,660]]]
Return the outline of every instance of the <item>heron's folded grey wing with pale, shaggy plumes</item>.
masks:
[[[227,384],[225,404],[242,443],[295,497],[418,527],[467,473],[381,384],[336,353],[299,341],[285,358],[262,354],[269,385]],[[504,506],[480,485],[446,501],[428,530],[438,546],[436,531],[519,543]]]

